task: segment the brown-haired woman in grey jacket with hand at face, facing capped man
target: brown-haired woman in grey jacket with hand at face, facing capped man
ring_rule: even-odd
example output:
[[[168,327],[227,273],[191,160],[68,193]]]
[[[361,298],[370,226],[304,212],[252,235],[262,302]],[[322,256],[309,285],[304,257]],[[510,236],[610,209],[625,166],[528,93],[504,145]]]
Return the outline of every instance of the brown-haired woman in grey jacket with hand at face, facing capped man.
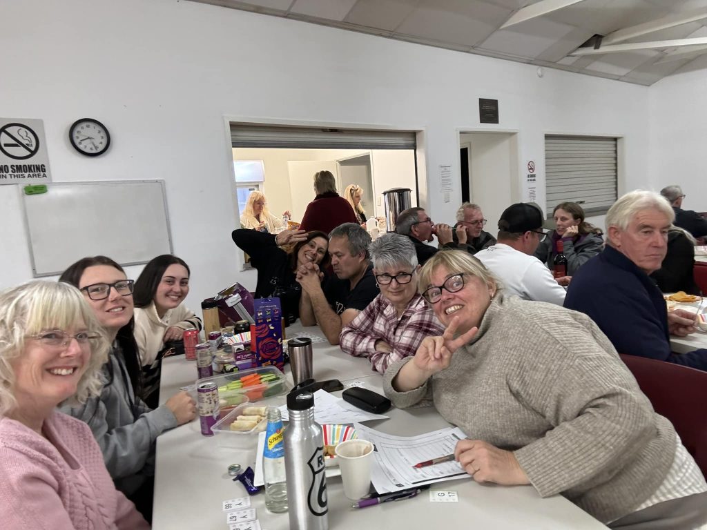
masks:
[[[584,220],[582,206],[563,202],[552,211],[555,230],[537,246],[534,256],[552,269],[557,255],[557,242],[562,242],[562,252],[567,258],[567,276],[572,276],[583,264],[602,252],[602,231]]]

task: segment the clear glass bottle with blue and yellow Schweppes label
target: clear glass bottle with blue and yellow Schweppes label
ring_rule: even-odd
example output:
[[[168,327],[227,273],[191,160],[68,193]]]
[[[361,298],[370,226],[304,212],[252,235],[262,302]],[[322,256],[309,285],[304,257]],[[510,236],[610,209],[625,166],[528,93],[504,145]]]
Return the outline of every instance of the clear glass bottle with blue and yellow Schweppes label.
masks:
[[[265,507],[269,512],[274,513],[287,511],[283,431],[279,408],[268,408],[263,451],[263,479],[265,482]]]

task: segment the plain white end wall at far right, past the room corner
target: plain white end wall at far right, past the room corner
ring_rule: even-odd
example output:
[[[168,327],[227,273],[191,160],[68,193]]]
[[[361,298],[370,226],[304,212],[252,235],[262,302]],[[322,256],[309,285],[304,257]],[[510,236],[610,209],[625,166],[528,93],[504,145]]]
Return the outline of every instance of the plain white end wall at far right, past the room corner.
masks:
[[[650,88],[650,187],[678,184],[683,208],[707,211],[707,57]]]

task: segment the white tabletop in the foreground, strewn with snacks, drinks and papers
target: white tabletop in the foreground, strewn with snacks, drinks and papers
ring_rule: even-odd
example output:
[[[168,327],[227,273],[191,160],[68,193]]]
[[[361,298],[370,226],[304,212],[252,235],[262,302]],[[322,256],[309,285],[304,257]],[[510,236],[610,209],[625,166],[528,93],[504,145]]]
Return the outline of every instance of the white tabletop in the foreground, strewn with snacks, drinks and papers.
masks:
[[[288,328],[288,331],[293,329]],[[312,328],[307,328],[312,330]],[[321,332],[317,328],[315,333]],[[381,391],[382,378],[370,372],[366,359],[349,358],[336,346],[315,345],[317,379],[337,377],[344,384],[353,381]],[[183,358],[166,359],[162,369],[160,401],[165,401],[178,387],[193,382],[196,367]],[[346,377],[344,374],[349,375]],[[337,394],[338,395],[338,394]],[[285,396],[271,398],[282,404]],[[368,422],[372,428],[399,435],[416,435],[449,424],[434,408],[392,409],[389,420]],[[228,438],[228,440],[225,440]],[[229,464],[255,466],[255,439],[250,447],[233,447],[233,436],[205,437],[199,422],[165,432],[157,439],[154,530],[227,529],[224,500],[244,497],[243,485],[233,482],[226,471]],[[560,495],[542,499],[531,486],[506,488],[479,485],[462,479],[433,485],[455,490],[460,502],[430,502],[428,492],[403,502],[352,510],[344,497],[340,478],[327,481],[330,529],[581,529],[605,528]],[[287,529],[287,514],[271,514],[265,509],[264,494],[250,497],[264,530]]]

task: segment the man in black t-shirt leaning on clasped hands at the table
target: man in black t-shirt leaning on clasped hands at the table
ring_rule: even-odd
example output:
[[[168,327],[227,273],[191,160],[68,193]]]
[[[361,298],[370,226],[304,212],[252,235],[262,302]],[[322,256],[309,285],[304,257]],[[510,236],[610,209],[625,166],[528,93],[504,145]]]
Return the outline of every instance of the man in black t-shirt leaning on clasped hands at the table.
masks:
[[[302,325],[319,324],[330,344],[339,343],[341,328],[380,293],[369,263],[368,245],[370,235],[361,225],[344,223],[329,233],[334,276],[322,283],[324,273],[315,263],[304,264],[297,271],[297,281],[302,285]]]

